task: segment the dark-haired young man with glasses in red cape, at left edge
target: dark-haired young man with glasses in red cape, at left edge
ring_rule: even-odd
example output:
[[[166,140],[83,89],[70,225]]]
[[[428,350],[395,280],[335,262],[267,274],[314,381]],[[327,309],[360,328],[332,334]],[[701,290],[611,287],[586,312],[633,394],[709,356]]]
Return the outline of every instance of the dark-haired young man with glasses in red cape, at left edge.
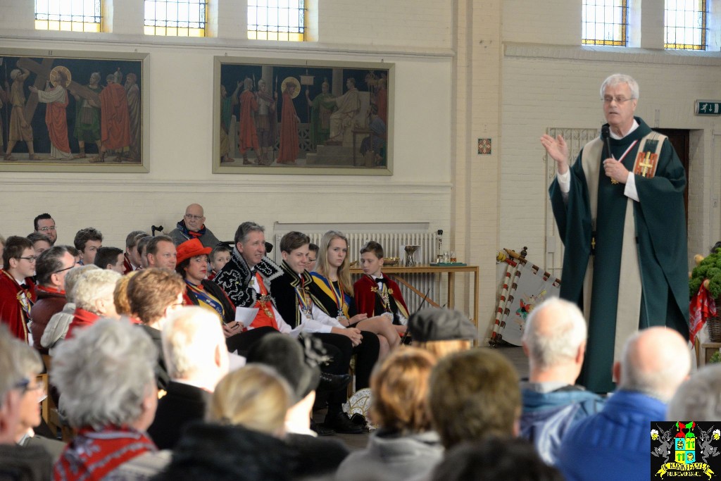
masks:
[[[25,343],[32,344],[27,327],[30,308],[35,303],[35,250],[25,237],[10,236],[3,252],[0,270],[0,322]]]

